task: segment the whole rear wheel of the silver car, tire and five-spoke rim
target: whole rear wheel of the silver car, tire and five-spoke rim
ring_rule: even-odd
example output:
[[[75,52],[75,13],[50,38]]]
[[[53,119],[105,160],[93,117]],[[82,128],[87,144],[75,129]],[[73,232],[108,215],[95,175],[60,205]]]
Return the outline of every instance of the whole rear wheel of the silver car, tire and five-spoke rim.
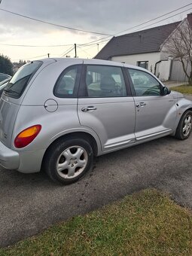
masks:
[[[50,146],[44,157],[44,169],[53,181],[71,184],[91,169],[93,149],[84,139],[63,139]]]

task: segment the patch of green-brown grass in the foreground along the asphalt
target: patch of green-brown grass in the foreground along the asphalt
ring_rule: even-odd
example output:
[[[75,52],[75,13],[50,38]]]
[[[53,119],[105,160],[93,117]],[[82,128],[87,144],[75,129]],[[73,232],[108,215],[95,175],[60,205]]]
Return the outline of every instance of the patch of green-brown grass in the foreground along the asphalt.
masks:
[[[157,190],[142,190],[0,255],[192,255],[192,215]]]

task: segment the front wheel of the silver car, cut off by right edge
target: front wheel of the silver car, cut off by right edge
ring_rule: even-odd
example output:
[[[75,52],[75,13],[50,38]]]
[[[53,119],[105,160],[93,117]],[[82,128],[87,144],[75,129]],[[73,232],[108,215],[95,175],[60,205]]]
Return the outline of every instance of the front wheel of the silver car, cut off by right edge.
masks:
[[[178,127],[175,133],[177,139],[187,139],[190,136],[192,130],[192,111],[186,111],[181,120],[178,123]]]

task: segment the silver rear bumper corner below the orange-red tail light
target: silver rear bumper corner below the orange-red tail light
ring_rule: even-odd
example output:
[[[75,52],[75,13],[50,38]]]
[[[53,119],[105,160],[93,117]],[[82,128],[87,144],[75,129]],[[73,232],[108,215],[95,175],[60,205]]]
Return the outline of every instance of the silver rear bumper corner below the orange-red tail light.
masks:
[[[18,169],[20,166],[19,154],[7,148],[2,142],[0,142],[0,166],[6,169]]]

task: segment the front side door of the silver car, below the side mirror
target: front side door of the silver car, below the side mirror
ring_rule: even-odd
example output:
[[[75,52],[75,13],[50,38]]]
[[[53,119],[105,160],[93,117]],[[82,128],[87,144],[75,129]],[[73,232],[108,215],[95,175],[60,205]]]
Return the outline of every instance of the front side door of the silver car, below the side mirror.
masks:
[[[172,95],[163,96],[163,86],[148,72],[139,69],[126,69],[126,72],[135,95],[137,141],[172,133],[176,120]]]

